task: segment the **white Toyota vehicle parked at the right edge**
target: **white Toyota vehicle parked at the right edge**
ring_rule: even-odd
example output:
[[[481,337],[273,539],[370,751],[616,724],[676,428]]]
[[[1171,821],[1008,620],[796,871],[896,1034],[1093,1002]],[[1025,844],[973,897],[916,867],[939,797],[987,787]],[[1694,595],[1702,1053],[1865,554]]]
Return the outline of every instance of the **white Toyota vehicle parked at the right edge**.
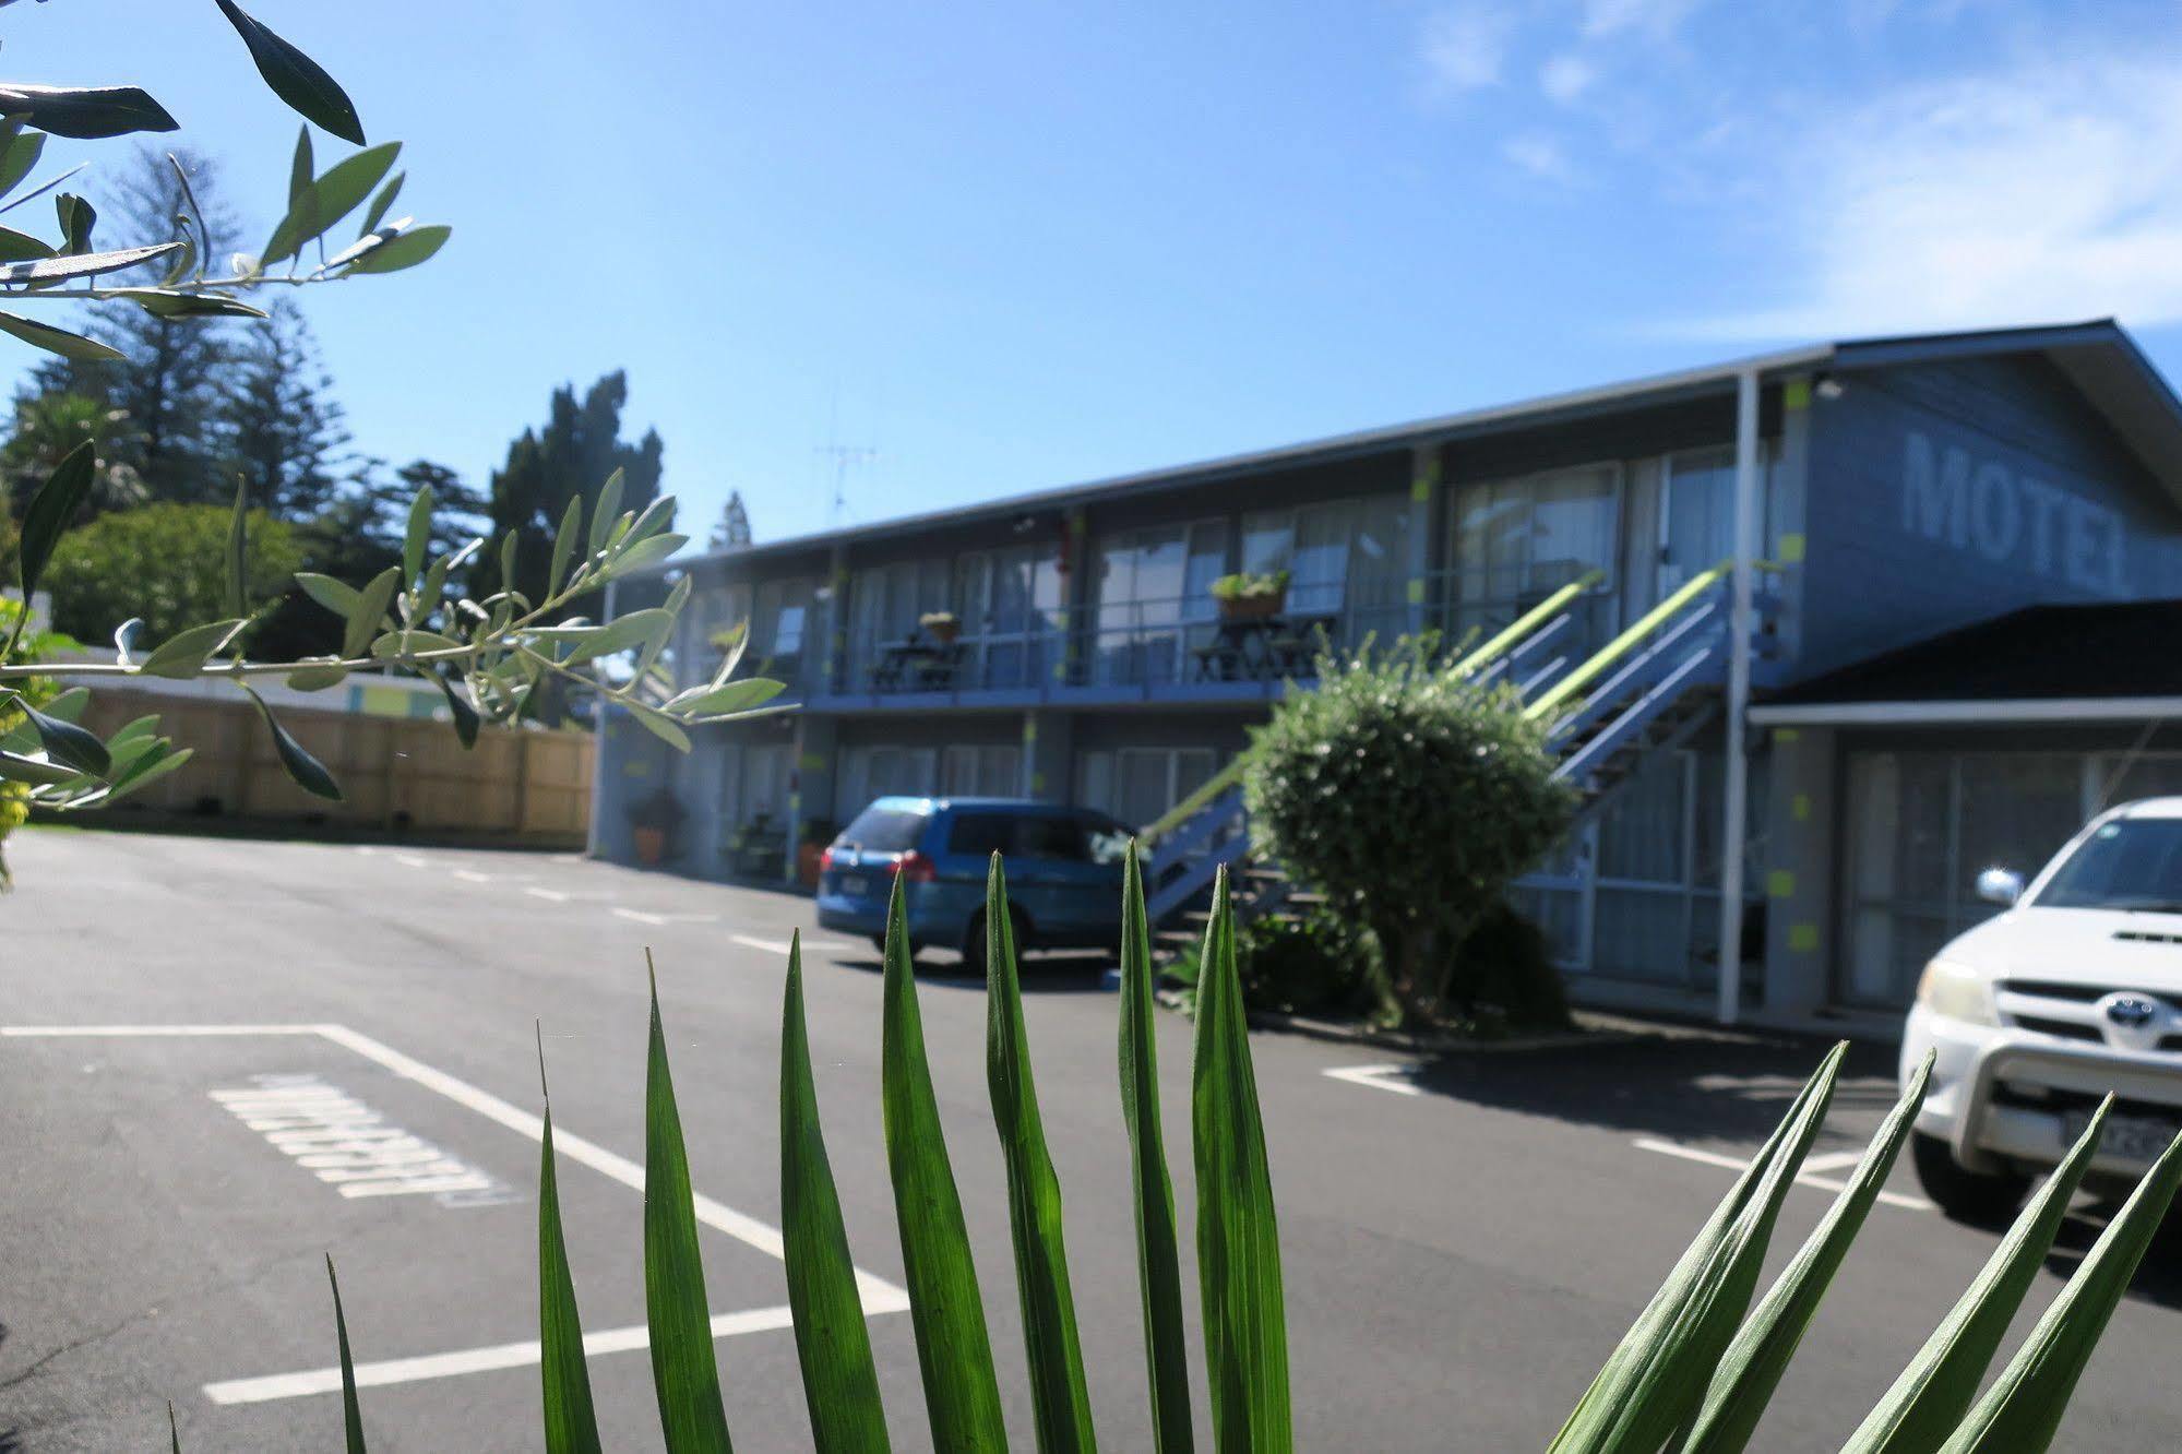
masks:
[[[1925,967],[1903,1083],[1938,1050],[1916,1120],[1925,1192],[1999,1220],[2112,1092],[2093,1175],[2136,1177],[2182,1127],[2182,797],[2093,819],[2029,884],[1986,869],[2007,913]]]

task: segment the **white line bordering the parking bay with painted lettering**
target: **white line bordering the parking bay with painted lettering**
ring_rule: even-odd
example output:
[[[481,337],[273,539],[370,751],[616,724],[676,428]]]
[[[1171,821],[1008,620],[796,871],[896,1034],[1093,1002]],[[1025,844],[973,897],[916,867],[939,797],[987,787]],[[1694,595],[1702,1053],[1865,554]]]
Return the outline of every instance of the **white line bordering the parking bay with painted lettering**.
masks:
[[[336,1046],[353,1050],[356,1054],[373,1061],[404,1081],[415,1081],[417,1085],[454,1100],[460,1107],[484,1116],[487,1120],[500,1122],[508,1131],[528,1137],[530,1142],[543,1142],[546,1122],[515,1107],[500,1096],[449,1076],[445,1070],[434,1070],[423,1061],[401,1054],[393,1046],[386,1046],[369,1035],[351,1030],[345,1024],[11,1024],[0,1026],[0,1037],[9,1039],[89,1039],[89,1037],[124,1037],[124,1039],[164,1039],[164,1037],[231,1037],[231,1035],[316,1035]],[[591,1142],[565,1127],[554,1127],[554,1151],[563,1161],[576,1161],[578,1166],[589,1166],[591,1170],[620,1181],[622,1185],[644,1192],[644,1166],[631,1161],[628,1157],[607,1151],[598,1142]],[[696,1207],[696,1220],[705,1223],[714,1231],[724,1231],[727,1236],[755,1247],[770,1258],[783,1258],[786,1244],[781,1242],[779,1227],[762,1223],[755,1216],[738,1212],[727,1203],[714,1201],[700,1192],[690,1199]],[[871,1273],[855,1268],[858,1297],[864,1303],[864,1316],[877,1316],[884,1312],[906,1312],[910,1306],[910,1295],[906,1288],[897,1288],[884,1277],[873,1277]],[[757,1308],[753,1312],[727,1312],[714,1314],[711,1319],[714,1336],[740,1334],[740,1332],[762,1332],[768,1327],[788,1327],[786,1308]],[[644,1347],[642,1327],[615,1327],[598,1334],[585,1334],[587,1351],[622,1351]],[[594,1338],[602,1340],[594,1347]],[[637,1340],[631,1340],[637,1338]],[[373,1369],[369,1382],[373,1384],[399,1384],[417,1382],[425,1378],[452,1378],[456,1373],[478,1373],[484,1369],[511,1369],[535,1364],[539,1360],[537,1343],[502,1343],[482,1349],[463,1349],[452,1354],[425,1354],[419,1358],[393,1358],[377,1364],[364,1364]],[[364,1382],[364,1367],[358,1367],[358,1382]],[[332,1375],[332,1382],[327,1382]],[[338,1369],[305,1369],[301,1373],[271,1373],[264,1378],[238,1378],[216,1384],[205,1384],[205,1395],[218,1404],[247,1404],[264,1399],[303,1397],[312,1393],[332,1393],[340,1389]]]

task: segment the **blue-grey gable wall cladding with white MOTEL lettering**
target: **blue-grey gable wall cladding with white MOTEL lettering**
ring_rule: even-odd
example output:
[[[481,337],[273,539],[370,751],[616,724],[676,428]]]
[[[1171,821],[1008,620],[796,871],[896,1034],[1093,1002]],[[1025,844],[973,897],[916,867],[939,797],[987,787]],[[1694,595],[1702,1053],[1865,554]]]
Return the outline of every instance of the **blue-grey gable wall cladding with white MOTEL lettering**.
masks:
[[[1796,677],[2025,605],[2182,596],[2182,511],[2045,358],[1839,382],[1811,402]]]

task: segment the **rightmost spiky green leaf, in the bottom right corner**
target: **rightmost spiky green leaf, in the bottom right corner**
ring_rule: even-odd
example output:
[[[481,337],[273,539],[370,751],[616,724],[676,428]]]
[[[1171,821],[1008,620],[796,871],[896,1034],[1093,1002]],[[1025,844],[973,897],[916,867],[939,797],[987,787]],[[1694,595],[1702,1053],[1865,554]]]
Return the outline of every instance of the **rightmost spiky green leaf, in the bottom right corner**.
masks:
[[[2099,1233],[2090,1255],[2077,1264],[2069,1286],[2016,1349],[2014,1362],[1977,1402],[1942,1454],[2040,1454],[2053,1445],[2069,1395],[2084,1378],[2090,1349],[2099,1345],[2121,1295],[2130,1290],[2136,1264],[2151,1247],[2178,1183],[2182,1183],[2182,1135],[2169,1142],[2136,1183],[2130,1201]]]

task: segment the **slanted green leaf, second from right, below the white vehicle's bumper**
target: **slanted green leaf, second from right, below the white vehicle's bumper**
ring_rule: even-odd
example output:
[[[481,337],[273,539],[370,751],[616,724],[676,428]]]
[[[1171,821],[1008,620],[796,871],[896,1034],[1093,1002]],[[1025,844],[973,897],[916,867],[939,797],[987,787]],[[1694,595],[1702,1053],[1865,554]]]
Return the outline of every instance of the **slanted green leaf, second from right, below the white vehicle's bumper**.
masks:
[[[2093,1113],[2084,1135],[2045,1179],[2016,1225],[1992,1249],[1977,1282],[1962,1295],[1946,1321],[1933,1330],[1887,1395],[1863,1419],[1842,1454],[1929,1454],[1938,1450],[1962,1421],[1977,1384],[1986,1378],[1992,1354],[1999,1351],[2007,1325],[2023,1306],[2045,1255],[2053,1247],[2069,1199],[2075,1196],[2090,1157],[2099,1151],[2112,1096]]]

